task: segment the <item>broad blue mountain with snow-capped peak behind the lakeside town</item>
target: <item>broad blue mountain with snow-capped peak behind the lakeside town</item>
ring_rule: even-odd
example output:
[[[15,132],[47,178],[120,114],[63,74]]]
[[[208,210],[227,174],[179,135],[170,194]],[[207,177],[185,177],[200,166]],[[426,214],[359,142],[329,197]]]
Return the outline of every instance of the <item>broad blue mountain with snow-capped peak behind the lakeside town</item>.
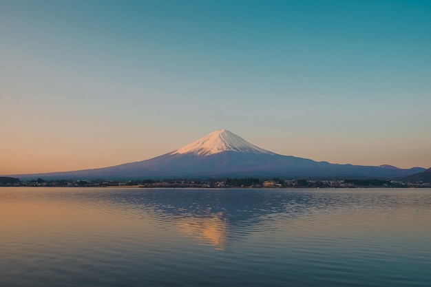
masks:
[[[222,129],[162,156],[104,167],[56,173],[15,175],[21,180],[96,179],[131,180],[163,178],[222,178],[222,177],[280,177],[280,178],[385,178],[395,179],[425,171],[421,167],[398,169],[352,164],[315,162],[295,156],[282,156],[252,145],[231,131]]]

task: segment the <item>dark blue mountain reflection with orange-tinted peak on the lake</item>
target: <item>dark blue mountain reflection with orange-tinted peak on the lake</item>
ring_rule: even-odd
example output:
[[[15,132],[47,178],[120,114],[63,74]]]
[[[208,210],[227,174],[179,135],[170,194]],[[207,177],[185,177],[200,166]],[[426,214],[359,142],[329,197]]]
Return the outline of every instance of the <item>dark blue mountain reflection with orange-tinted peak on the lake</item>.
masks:
[[[313,198],[289,193],[275,196],[271,190],[139,189],[111,198],[121,209],[153,213],[174,224],[181,234],[224,250],[229,242],[253,231],[253,225],[269,221],[269,215],[283,214],[291,219],[310,213]],[[120,197],[120,198],[118,198]],[[108,197],[110,198],[110,197]],[[320,199],[321,204],[330,204]],[[139,216],[139,215],[138,215]]]

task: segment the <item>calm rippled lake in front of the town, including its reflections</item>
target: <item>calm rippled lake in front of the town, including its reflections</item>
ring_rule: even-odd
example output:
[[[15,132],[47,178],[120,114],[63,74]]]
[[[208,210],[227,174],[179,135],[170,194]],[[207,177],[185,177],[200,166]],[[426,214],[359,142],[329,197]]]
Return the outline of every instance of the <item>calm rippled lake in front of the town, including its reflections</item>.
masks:
[[[431,189],[3,187],[0,286],[431,286]]]

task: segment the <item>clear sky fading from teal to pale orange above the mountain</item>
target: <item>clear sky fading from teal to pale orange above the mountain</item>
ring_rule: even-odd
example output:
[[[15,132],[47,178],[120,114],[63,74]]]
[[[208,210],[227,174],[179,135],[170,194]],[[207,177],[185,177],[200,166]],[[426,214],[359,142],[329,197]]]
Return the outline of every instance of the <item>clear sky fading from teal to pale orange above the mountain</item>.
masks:
[[[0,174],[145,160],[216,129],[431,166],[431,1],[0,1]]]

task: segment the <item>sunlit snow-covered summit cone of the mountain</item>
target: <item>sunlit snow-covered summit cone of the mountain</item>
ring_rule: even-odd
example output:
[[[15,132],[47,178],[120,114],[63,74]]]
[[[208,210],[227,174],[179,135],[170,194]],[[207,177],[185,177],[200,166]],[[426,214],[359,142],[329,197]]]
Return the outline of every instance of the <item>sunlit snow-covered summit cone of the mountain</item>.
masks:
[[[199,156],[209,156],[214,153],[221,153],[222,151],[274,154],[271,151],[266,151],[265,149],[260,149],[255,145],[251,145],[250,142],[247,142],[226,129],[213,131],[211,134],[185,147],[181,147],[171,154],[196,153]]]

